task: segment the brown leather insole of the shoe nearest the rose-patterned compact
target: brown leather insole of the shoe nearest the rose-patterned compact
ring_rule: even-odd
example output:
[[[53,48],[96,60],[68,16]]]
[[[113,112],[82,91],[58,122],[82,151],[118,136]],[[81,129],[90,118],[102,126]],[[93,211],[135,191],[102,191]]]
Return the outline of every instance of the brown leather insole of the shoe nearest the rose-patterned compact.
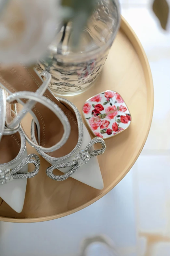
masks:
[[[33,68],[25,68],[22,65],[0,65],[0,82],[11,92],[33,91],[35,92],[42,84],[42,80]],[[74,113],[59,102],[47,89],[44,96],[55,102],[67,116],[71,133],[67,142],[60,149],[48,153],[52,157],[61,157],[69,154],[78,142],[78,124]],[[23,100],[25,102],[25,100]],[[58,117],[47,107],[36,103],[32,109],[40,125],[40,145],[51,147],[59,142],[63,136],[63,125]]]

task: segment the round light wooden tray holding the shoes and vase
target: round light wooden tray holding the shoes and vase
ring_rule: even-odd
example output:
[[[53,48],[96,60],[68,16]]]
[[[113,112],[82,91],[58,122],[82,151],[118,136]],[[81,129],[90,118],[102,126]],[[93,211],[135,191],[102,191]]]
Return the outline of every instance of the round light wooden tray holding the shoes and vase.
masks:
[[[45,173],[49,163],[40,157],[38,175],[27,181],[22,212],[15,212],[0,199],[0,221],[39,222],[74,213],[108,193],[132,168],[151,125],[153,83],[146,54],[124,18],[98,80],[86,92],[68,98],[82,113],[87,99],[109,89],[120,93],[130,110],[132,123],[126,131],[107,139],[106,153],[98,157],[104,189],[93,189],[73,178],[63,182],[53,181]],[[23,122],[28,133],[30,122],[31,117]],[[35,152],[29,145],[27,149],[29,154]]]

